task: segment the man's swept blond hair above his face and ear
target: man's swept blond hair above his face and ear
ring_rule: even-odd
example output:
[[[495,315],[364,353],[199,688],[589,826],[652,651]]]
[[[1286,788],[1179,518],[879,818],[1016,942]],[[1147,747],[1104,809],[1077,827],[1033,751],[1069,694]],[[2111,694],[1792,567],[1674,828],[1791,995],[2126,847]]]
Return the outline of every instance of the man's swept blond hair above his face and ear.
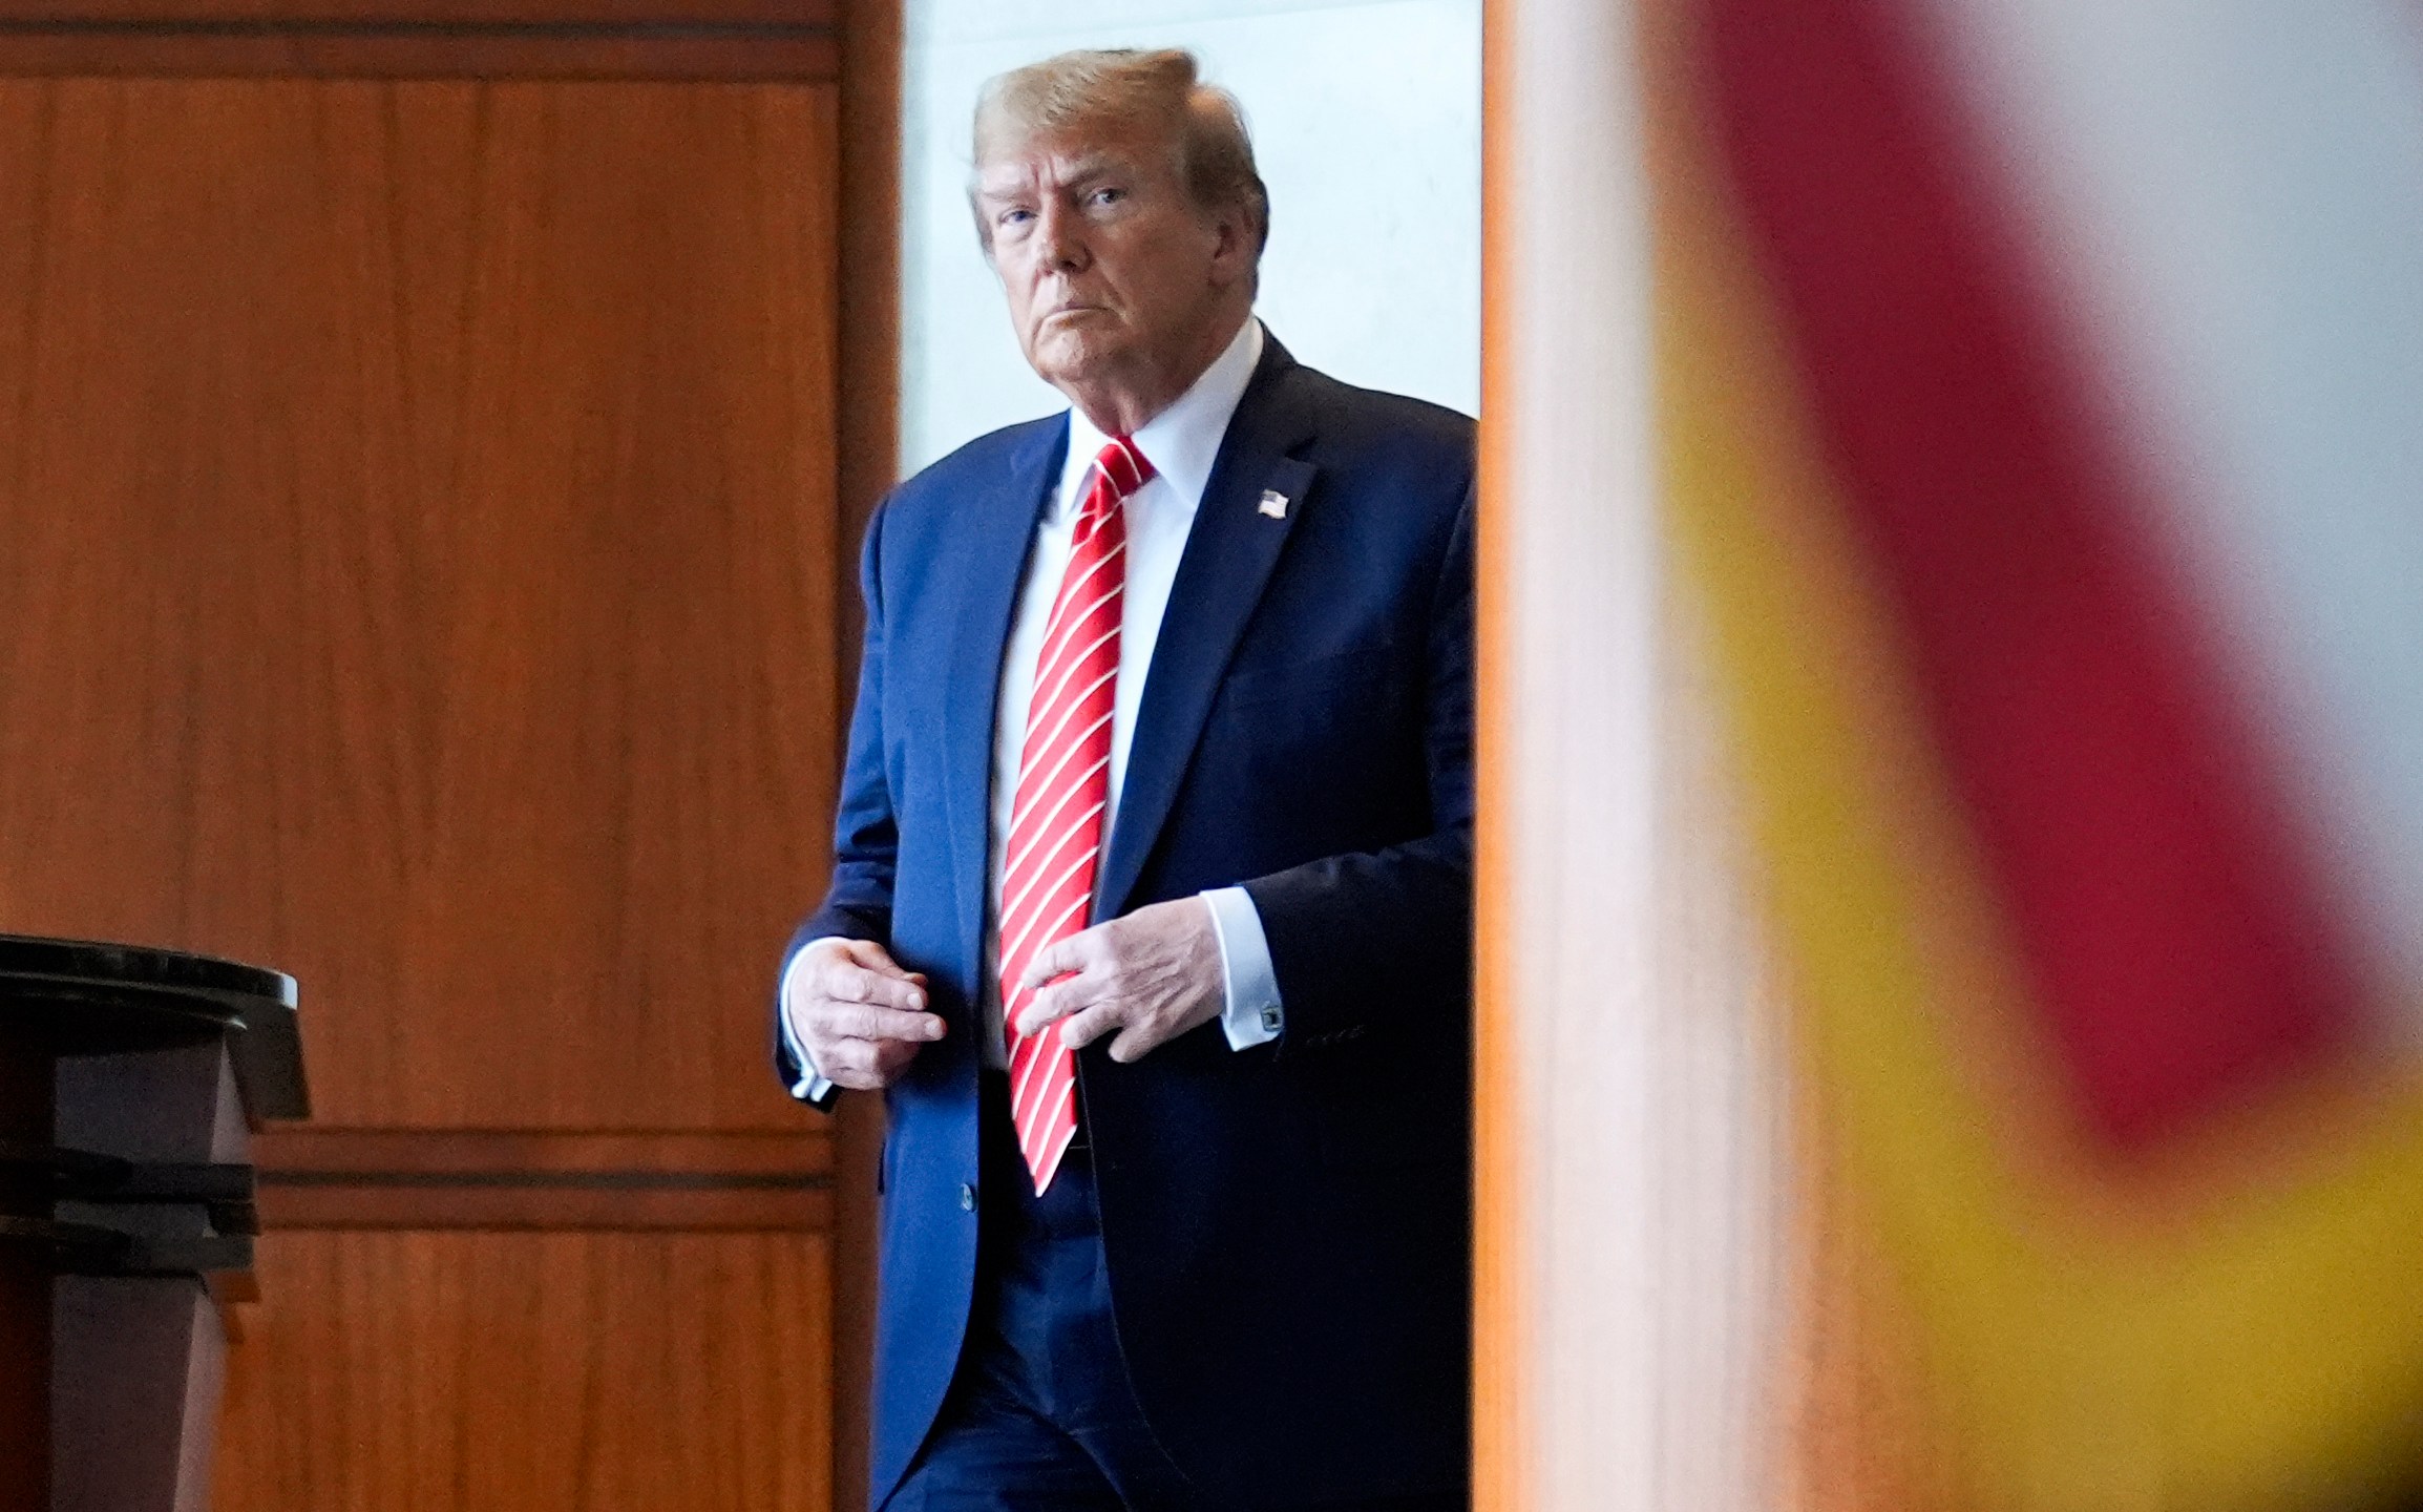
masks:
[[[1253,167],[1245,111],[1236,94],[1202,82],[1185,48],[1076,51],[986,80],[976,94],[976,167],[1003,143],[1110,121],[1158,128],[1178,155],[1178,182],[1199,208],[1245,211],[1260,262],[1270,242],[1270,189]],[[989,252],[993,235],[981,213],[976,235]]]

